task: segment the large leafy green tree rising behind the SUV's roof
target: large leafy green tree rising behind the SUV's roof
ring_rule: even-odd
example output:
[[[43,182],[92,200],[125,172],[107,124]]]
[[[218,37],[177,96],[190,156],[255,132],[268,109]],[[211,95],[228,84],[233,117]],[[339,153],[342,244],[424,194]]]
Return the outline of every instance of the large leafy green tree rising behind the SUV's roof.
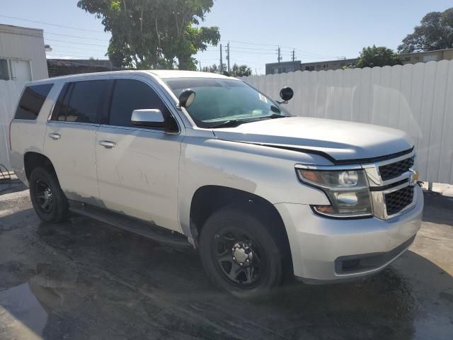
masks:
[[[119,67],[195,69],[193,58],[217,45],[219,28],[199,27],[214,0],[79,0],[112,33],[107,55]]]

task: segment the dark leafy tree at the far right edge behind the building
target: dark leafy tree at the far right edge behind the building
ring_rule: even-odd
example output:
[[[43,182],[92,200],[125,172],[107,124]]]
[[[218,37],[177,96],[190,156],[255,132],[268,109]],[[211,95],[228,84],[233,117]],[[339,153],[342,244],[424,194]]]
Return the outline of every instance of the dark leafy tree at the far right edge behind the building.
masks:
[[[413,33],[403,39],[398,52],[442,50],[453,48],[453,7],[443,12],[430,12],[415,26]]]

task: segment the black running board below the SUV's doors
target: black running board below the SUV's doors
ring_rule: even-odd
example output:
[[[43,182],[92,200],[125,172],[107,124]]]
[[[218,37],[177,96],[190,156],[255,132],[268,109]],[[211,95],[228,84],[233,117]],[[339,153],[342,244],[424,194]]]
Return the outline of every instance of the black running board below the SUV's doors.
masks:
[[[188,238],[178,232],[173,232],[143,220],[127,217],[117,212],[93,207],[75,200],[69,200],[69,210],[79,215],[90,217],[93,220],[107,223],[125,229],[128,232],[139,234],[156,242],[171,244],[173,246],[192,246]]]

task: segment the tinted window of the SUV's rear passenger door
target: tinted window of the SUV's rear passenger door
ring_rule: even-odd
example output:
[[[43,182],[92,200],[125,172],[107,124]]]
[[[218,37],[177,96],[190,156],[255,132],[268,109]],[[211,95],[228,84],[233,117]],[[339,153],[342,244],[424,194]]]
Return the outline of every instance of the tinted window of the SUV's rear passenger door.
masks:
[[[64,85],[52,120],[101,123],[106,80],[74,81]]]

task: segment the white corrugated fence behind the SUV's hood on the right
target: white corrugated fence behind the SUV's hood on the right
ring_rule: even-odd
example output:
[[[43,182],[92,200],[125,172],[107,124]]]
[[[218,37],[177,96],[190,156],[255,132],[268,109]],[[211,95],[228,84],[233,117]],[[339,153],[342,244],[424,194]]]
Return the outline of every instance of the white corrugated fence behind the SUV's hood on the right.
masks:
[[[420,179],[453,183],[453,61],[244,77],[279,98],[294,89],[294,115],[404,130],[417,149]],[[391,150],[389,150],[391,152]]]

